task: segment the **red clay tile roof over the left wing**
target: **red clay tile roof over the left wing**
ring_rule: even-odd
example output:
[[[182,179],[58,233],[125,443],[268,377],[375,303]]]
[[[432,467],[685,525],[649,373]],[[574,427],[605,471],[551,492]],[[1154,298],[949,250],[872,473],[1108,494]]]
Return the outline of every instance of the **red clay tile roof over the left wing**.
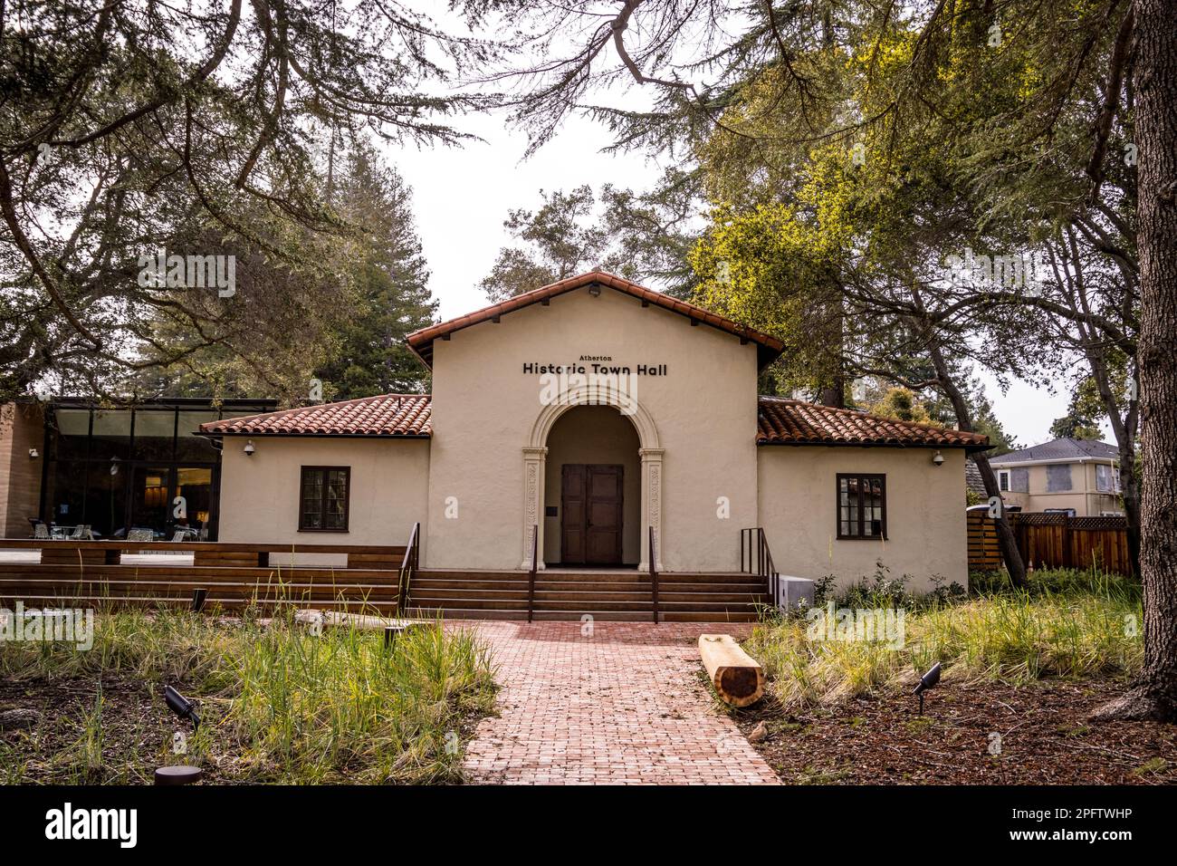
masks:
[[[426,437],[433,432],[430,402],[427,394],[384,394],[244,418],[222,418],[201,424],[200,432],[214,436]]]

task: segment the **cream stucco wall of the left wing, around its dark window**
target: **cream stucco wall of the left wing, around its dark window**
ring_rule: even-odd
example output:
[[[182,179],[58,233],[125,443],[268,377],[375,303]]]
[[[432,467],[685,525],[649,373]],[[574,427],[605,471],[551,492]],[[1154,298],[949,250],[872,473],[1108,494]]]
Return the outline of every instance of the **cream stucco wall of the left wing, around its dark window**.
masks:
[[[226,436],[221,452],[220,541],[301,544],[404,544],[415,521],[425,531],[428,439]],[[305,465],[351,467],[346,533],[298,530]],[[300,562],[327,561],[322,557]],[[334,564],[334,563],[332,563]]]

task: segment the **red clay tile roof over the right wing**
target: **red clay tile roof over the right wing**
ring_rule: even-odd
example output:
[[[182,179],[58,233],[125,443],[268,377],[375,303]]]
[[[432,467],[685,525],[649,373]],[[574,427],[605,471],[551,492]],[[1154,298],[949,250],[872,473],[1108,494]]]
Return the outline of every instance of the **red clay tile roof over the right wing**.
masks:
[[[892,445],[969,451],[989,448],[989,437],[979,434],[780,397],[760,397],[756,442],[760,445]]]

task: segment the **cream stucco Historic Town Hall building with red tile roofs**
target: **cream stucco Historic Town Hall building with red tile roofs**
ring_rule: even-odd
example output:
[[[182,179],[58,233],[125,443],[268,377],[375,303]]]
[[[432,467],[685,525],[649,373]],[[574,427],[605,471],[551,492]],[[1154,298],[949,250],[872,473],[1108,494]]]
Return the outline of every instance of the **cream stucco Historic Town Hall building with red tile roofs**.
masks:
[[[201,425],[221,541],[404,543],[424,569],[734,573],[759,527],[785,574],[967,581],[960,477],[984,436],[758,397],[780,341],[612,275],[407,337],[432,395]],[[597,378],[600,375],[601,378]],[[611,381],[610,381],[611,379]],[[534,542],[533,542],[534,538]]]

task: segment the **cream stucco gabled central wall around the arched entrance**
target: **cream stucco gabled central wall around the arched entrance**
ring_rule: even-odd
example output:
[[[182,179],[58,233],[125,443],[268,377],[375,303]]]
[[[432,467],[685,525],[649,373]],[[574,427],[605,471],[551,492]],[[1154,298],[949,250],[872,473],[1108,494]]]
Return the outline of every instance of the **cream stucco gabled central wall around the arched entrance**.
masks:
[[[638,378],[664,449],[661,556],[667,570],[736,570],[739,529],[756,521],[756,345],[611,289],[579,289],[433,343],[430,568],[519,568],[524,454],[539,417],[540,377],[526,362],[581,355],[666,364]],[[643,443],[644,444],[644,443]],[[459,500],[445,517],[446,497]],[[717,497],[731,502],[717,517]],[[644,528],[643,528],[643,531]]]

